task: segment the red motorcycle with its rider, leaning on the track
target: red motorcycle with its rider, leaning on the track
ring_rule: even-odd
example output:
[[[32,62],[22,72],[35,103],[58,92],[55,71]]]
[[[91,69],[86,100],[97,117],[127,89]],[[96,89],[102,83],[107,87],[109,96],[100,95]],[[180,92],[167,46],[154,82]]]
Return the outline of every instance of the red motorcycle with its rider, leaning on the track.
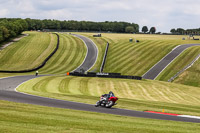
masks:
[[[112,106],[116,105],[116,101],[118,100],[117,97],[115,97],[114,93],[111,94],[111,96],[108,98],[108,100],[106,99],[106,97],[101,96],[100,100],[97,101],[95,107],[98,106],[102,106],[102,107],[106,107],[106,108],[111,108]]]

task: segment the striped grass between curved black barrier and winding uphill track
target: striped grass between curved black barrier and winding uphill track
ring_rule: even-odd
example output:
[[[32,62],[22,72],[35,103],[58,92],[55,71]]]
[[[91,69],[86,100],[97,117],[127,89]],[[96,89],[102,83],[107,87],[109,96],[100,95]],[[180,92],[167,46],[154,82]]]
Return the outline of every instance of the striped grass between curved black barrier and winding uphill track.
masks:
[[[39,70],[41,74],[65,74],[76,69],[85,59],[87,48],[82,40],[68,34],[59,36],[59,49]]]

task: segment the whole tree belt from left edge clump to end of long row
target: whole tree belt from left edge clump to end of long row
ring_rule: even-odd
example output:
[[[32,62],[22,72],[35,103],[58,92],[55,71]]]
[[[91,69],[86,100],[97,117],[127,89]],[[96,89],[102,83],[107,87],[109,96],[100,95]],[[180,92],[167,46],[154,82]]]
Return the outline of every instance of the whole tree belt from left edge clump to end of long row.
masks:
[[[51,19],[0,18],[0,42],[21,34],[25,30],[69,30],[116,33],[138,33],[139,25],[128,22],[59,21]]]

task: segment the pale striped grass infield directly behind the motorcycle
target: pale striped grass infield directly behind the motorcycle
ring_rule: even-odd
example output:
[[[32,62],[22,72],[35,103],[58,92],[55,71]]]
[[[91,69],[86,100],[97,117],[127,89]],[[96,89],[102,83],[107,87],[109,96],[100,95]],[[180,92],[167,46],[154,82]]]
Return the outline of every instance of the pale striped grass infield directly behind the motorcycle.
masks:
[[[47,76],[30,80],[17,90],[57,99],[95,104],[99,96],[113,91],[117,107],[200,116],[200,89],[185,85],[126,79]]]

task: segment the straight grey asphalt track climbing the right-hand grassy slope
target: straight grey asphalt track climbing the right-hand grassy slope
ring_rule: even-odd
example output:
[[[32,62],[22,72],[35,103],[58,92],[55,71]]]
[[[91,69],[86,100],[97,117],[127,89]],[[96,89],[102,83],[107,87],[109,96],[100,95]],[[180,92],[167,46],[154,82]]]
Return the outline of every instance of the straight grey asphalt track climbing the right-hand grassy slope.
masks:
[[[200,46],[200,44],[184,44],[177,46],[142,77],[144,79],[154,80],[176,57],[178,57],[184,50],[192,46]]]

